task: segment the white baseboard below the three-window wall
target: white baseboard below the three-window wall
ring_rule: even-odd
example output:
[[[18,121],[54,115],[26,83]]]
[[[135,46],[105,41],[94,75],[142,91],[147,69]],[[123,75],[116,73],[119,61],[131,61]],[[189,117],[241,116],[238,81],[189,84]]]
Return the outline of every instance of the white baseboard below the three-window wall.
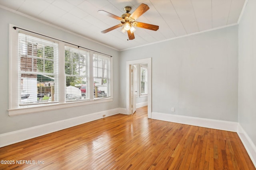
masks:
[[[106,115],[105,117],[108,117],[108,116],[116,115],[122,112],[124,112],[123,108],[115,108],[115,109],[100,111],[100,112],[83,115],[79,117],[74,117],[71,119],[65,119],[62,121],[56,121],[56,122],[52,122],[52,123],[48,123],[40,126],[30,127],[27,129],[0,134],[0,147],[4,147],[7,145],[11,145],[11,144],[32,139],[35,137],[39,137],[42,135],[46,135],[48,133],[60,131],[62,129],[66,129],[76,125],[94,121],[97,119],[102,119],[103,115]],[[124,113],[126,113],[126,109]]]

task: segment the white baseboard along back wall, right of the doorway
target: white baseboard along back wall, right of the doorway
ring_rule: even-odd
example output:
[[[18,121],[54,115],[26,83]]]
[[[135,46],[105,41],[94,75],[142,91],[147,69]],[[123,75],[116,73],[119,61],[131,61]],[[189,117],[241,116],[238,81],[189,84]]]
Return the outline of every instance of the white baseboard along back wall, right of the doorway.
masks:
[[[182,123],[186,125],[207,127],[207,128],[219,129],[224,131],[232,131],[232,132],[237,132],[237,127],[238,127],[238,123],[232,122],[232,121],[220,121],[220,120],[214,120],[214,119],[204,119],[199,117],[172,115],[167,113],[152,112],[152,119],[170,121],[174,123]]]

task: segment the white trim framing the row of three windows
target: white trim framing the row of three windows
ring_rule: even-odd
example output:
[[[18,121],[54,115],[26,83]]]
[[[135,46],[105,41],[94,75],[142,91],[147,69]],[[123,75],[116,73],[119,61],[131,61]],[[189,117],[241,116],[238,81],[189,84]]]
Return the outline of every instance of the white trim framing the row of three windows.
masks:
[[[58,57],[59,59],[59,102],[58,103],[52,103],[52,104],[45,104],[44,106],[40,105],[32,105],[32,106],[24,106],[19,107],[18,106],[18,98],[13,97],[19,94],[18,90],[18,33],[20,32],[18,29],[13,29],[14,25],[9,25],[9,109],[8,113],[10,116],[14,115],[22,115],[22,114],[28,114],[28,113],[37,113],[42,111],[50,111],[50,110],[56,110],[56,109],[63,109],[63,108],[69,108],[69,107],[77,107],[77,106],[84,106],[84,105],[90,105],[90,104],[96,104],[96,103],[102,103],[102,102],[111,102],[113,101],[113,87],[112,87],[112,57],[110,57],[110,72],[111,72],[111,84],[110,84],[110,97],[109,98],[101,98],[96,100],[87,100],[87,101],[78,101],[78,102],[65,102],[66,100],[66,85],[65,85],[65,60],[62,59],[62,57]],[[33,33],[30,33],[28,31],[22,31],[26,34],[32,35],[34,37],[40,37],[42,39],[49,39],[40,35],[36,35]],[[51,40],[52,41],[52,40]],[[59,56],[65,55],[65,44],[62,41],[54,40],[54,42],[59,44],[58,52]],[[68,45],[70,46],[70,45]],[[70,46],[71,47],[71,46]],[[93,53],[90,51],[90,64],[93,62]],[[102,54],[100,54],[102,55]],[[93,72],[91,72],[91,68],[93,70],[93,64],[90,65],[90,79],[93,79]],[[90,81],[90,86],[93,86],[93,81]],[[64,93],[62,93],[64,92]],[[91,94],[91,93],[90,93]],[[93,95],[93,93],[92,93]]]

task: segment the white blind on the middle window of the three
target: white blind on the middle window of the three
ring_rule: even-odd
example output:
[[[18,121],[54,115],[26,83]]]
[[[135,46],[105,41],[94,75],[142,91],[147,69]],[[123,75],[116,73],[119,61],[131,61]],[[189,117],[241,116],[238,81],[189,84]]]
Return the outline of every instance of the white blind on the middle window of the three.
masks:
[[[90,98],[89,52],[65,46],[66,101]]]

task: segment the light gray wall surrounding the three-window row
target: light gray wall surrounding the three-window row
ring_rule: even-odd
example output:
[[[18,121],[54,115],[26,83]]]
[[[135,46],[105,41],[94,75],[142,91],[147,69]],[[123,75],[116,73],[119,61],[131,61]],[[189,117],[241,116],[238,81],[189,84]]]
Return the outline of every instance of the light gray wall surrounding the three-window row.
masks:
[[[92,104],[87,106],[72,107],[67,109],[59,109],[54,111],[45,111],[41,113],[32,113],[26,115],[8,116],[8,78],[9,78],[9,24],[14,24],[17,27],[23,27],[50,37],[61,39],[69,43],[74,43],[82,47],[87,47],[92,50],[100,51],[113,56],[113,102],[104,102],[101,104]],[[118,107],[118,77],[119,77],[119,52],[108,47],[99,45],[80,36],[67,33],[60,29],[51,27],[41,22],[20,16],[0,8],[0,134],[11,131],[16,131],[37,125],[43,125],[54,121],[78,117],[89,113],[104,111]]]

